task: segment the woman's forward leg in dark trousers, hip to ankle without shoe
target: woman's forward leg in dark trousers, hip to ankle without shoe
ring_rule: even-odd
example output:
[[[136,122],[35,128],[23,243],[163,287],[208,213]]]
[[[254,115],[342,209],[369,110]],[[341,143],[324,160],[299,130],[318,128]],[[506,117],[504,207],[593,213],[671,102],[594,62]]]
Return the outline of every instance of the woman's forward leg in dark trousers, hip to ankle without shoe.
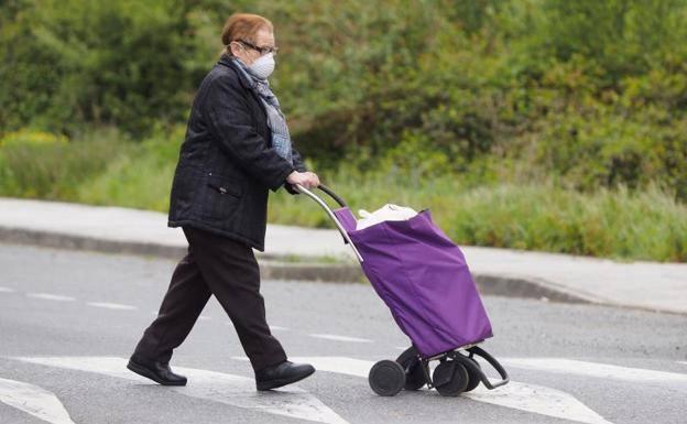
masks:
[[[254,370],[283,362],[286,354],[272,336],[260,294],[253,250],[239,241],[185,228],[203,278],[229,315]]]

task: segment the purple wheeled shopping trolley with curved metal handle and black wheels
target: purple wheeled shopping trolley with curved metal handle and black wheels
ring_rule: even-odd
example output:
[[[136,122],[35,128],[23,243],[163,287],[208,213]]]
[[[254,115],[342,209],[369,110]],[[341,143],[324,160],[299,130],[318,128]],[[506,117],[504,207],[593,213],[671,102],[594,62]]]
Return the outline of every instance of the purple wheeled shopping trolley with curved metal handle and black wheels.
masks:
[[[443,395],[458,395],[480,382],[495,389],[509,382],[503,367],[477,344],[492,336],[491,324],[460,249],[432,220],[429,210],[403,221],[383,221],[357,230],[356,218],[330,188],[318,187],[340,206],[331,210],[315,193],[360,261],[378,295],[412,341],[396,360],[377,362],[372,390],[395,395],[425,384]],[[491,382],[475,357],[491,365],[501,380]],[[429,361],[438,360],[430,376]]]

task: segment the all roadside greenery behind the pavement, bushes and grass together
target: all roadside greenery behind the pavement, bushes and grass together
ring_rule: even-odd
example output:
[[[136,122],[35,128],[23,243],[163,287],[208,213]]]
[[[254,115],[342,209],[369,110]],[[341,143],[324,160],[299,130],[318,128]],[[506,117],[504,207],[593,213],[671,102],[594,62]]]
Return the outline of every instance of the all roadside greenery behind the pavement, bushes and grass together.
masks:
[[[237,10],[272,18],[296,145],[353,207],[459,243],[687,261],[678,0],[0,8],[0,195],[166,210],[193,93]],[[302,196],[273,222],[330,226]]]

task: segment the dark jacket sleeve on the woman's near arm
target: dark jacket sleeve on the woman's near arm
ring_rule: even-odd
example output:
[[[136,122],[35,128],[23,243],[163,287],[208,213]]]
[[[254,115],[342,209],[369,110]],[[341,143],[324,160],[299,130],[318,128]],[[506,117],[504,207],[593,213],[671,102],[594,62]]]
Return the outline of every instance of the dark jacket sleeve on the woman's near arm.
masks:
[[[257,132],[242,91],[231,78],[218,77],[209,84],[205,106],[210,131],[225,153],[252,177],[276,191],[295,167]]]

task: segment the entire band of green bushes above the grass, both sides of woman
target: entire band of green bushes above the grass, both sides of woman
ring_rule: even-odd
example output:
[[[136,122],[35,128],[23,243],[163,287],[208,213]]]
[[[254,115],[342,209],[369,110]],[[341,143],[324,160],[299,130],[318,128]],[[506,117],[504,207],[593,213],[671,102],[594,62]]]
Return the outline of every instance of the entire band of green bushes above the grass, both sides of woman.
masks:
[[[32,126],[78,135],[107,123],[140,140],[156,121],[181,122],[221,48],[223,20],[250,10],[275,23],[283,53],[271,81],[298,146],[323,166],[400,161],[417,175],[546,175],[590,193],[656,184],[687,198],[684,1],[14,0],[2,9],[0,133]]]

